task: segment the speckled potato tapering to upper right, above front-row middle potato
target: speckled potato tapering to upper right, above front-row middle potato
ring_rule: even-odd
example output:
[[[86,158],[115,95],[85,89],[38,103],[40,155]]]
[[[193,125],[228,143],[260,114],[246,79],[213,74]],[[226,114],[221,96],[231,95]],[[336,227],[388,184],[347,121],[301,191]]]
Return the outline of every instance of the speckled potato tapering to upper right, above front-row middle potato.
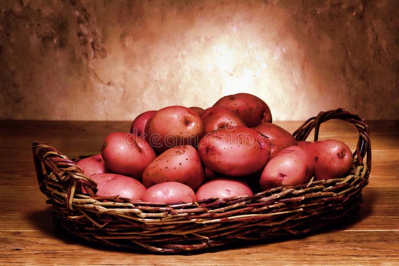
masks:
[[[200,155],[191,145],[167,149],[155,158],[143,172],[143,184],[148,188],[155,184],[173,181],[196,190],[203,182],[204,172]]]

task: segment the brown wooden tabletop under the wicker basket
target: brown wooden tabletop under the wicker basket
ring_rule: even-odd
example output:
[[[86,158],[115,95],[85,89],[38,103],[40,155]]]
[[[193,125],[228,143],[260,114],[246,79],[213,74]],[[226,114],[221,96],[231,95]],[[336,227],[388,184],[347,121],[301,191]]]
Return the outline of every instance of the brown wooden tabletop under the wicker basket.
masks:
[[[301,122],[276,122],[289,132]],[[369,122],[372,172],[355,221],[301,239],[217,250],[192,256],[149,255],[87,245],[57,231],[38,189],[33,140],[75,157],[100,151],[113,131],[130,122],[0,122],[0,265],[398,265],[399,122]],[[321,138],[354,148],[357,132],[342,121],[321,127]]]

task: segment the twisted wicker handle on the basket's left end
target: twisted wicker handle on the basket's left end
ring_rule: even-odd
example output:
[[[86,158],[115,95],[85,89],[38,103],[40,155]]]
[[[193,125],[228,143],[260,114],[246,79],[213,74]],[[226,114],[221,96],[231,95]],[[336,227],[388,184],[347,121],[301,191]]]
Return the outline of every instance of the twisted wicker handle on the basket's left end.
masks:
[[[82,169],[67,156],[62,155],[48,143],[33,141],[33,162],[40,189],[45,190],[44,175],[53,175],[54,182],[67,191],[66,203],[73,198],[75,191],[84,188],[90,196],[97,193],[97,183],[86,176]],[[72,206],[68,206],[72,208]]]

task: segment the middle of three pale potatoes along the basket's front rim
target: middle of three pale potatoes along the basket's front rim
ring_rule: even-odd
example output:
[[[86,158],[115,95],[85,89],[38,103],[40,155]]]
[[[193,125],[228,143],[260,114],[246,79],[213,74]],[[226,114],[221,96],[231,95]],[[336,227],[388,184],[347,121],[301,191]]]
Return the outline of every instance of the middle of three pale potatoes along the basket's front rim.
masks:
[[[141,197],[145,202],[178,203],[197,201],[194,190],[179,182],[165,182],[149,187]]]

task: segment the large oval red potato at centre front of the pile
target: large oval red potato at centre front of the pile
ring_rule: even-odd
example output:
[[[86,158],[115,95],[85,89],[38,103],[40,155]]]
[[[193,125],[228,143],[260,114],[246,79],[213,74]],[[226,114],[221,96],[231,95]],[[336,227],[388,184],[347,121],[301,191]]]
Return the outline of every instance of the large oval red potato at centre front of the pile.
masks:
[[[270,156],[270,144],[253,129],[221,128],[203,136],[198,151],[202,163],[211,170],[240,176],[253,173],[266,164]]]

